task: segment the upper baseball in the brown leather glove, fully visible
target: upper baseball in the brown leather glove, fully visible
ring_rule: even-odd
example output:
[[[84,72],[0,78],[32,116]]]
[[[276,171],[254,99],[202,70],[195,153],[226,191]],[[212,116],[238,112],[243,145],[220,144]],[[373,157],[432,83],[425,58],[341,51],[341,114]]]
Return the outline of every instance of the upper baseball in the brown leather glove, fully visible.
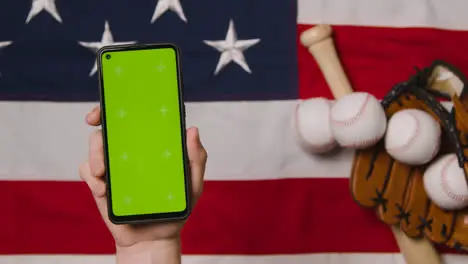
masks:
[[[405,109],[388,121],[385,148],[400,162],[422,165],[437,155],[440,140],[440,125],[430,114],[419,109]]]

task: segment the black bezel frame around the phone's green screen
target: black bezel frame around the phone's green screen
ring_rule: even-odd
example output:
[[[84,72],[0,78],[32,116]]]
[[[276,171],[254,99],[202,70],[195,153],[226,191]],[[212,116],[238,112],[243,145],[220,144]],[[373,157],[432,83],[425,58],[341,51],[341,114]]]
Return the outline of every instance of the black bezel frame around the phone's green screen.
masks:
[[[140,215],[126,215],[118,216],[115,215],[112,210],[112,186],[110,183],[111,173],[109,170],[109,149],[107,143],[107,130],[106,130],[106,107],[104,97],[104,80],[102,71],[102,57],[107,52],[125,52],[135,50],[147,50],[147,49],[173,49],[176,57],[177,67],[177,83],[178,83],[178,97],[179,97],[179,112],[180,112],[180,129],[181,129],[181,143],[183,148],[183,164],[184,164],[184,184],[185,184],[185,200],[186,208],[180,212],[170,213],[154,213],[154,214],[140,214]],[[185,103],[183,96],[183,81],[181,78],[181,67],[180,67],[180,52],[179,48],[173,43],[155,43],[155,44],[126,44],[126,45],[111,45],[100,48],[97,52],[97,68],[99,73],[99,95],[100,95],[100,107],[101,107],[101,127],[104,143],[104,163],[106,168],[105,182],[107,191],[107,204],[108,204],[108,216],[109,220],[114,224],[144,224],[149,222],[167,222],[167,221],[180,221],[185,220],[191,213],[191,173],[187,152],[186,143],[186,125],[185,125]]]

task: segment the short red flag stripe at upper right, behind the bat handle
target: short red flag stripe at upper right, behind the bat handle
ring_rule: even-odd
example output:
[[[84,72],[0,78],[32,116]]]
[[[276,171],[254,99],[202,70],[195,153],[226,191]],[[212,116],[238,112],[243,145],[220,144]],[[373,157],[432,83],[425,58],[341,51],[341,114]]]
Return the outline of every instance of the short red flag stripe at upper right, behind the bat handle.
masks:
[[[298,36],[312,27],[298,25]],[[340,60],[356,91],[382,96],[396,83],[435,59],[446,60],[468,73],[468,31],[333,26]],[[332,98],[309,51],[298,43],[300,98]]]

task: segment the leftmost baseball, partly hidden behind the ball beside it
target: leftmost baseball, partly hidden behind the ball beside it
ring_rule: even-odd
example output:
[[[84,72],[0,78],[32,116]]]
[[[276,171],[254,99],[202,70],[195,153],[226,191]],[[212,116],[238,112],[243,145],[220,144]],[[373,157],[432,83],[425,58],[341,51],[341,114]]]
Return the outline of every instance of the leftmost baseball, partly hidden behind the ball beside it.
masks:
[[[311,98],[297,105],[296,135],[300,144],[312,153],[325,153],[335,148],[330,129],[331,102],[325,98]]]

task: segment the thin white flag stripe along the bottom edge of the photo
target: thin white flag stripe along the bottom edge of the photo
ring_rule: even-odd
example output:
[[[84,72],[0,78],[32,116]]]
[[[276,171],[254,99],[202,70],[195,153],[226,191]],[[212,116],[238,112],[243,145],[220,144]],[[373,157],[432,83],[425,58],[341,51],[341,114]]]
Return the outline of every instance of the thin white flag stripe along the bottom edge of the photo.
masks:
[[[462,264],[467,255],[444,255],[444,264]],[[0,256],[0,264],[115,264],[109,255],[12,255]],[[304,254],[271,256],[184,256],[183,264],[404,264],[400,254]]]

